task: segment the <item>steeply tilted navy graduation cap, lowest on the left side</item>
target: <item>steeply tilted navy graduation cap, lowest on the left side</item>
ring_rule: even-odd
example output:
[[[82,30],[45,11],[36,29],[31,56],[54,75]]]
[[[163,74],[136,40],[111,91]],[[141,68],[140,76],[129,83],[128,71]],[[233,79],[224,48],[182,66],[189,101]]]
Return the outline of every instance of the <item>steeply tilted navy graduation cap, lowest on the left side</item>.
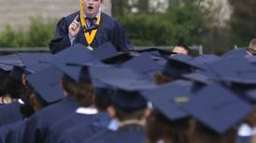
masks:
[[[60,88],[62,75],[62,71],[53,66],[28,75],[28,85],[35,92],[41,104],[49,105],[64,97],[64,92]]]

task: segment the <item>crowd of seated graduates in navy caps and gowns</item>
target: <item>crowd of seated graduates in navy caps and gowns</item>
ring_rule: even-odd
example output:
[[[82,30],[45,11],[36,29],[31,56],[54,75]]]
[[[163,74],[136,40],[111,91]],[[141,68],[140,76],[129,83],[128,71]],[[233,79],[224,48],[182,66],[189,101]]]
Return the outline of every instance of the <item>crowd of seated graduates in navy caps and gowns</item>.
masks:
[[[250,46],[1,56],[0,143],[256,143]]]

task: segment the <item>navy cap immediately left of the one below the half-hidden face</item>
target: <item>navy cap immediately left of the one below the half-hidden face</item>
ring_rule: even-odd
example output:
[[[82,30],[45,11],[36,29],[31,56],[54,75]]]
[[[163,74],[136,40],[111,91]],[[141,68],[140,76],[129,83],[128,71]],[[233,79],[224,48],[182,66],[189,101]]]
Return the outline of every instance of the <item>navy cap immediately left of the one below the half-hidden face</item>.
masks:
[[[161,71],[162,66],[157,64],[148,53],[141,54],[137,57],[131,58],[121,64],[121,67],[131,68],[141,73],[149,73],[152,71]]]

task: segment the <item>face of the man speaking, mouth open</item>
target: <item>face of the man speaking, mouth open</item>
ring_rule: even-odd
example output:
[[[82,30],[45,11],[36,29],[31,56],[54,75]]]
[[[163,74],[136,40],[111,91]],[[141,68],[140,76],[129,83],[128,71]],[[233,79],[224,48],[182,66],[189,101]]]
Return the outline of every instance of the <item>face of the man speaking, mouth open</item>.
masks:
[[[89,18],[93,18],[98,14],[103,3],[104,0],[82,0],[83,13]]]

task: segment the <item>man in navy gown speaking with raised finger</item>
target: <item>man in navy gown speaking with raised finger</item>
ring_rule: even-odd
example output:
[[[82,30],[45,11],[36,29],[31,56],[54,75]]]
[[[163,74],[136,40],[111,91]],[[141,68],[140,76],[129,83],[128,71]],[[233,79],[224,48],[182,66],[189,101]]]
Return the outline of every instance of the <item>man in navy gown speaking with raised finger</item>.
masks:
[[[104,0],[80,0],[80,10],[72,13],[56,26],[50,41],[50,52],[58,53],[74,44],[85,45],[89,50],[111,42],[118,51],[132,49],[118,20],[101,11]]]

